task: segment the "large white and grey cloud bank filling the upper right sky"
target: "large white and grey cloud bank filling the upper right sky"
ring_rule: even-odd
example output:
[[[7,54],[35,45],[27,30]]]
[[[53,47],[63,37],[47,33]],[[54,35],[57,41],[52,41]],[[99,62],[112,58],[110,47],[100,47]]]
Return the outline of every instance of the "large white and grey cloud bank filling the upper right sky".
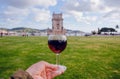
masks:
[[[62,6],[62,10],[69,17],[72,15],[76,21],[89,24],[101,21],[103,15],[109,19],[120,19],[119,4],[120,0],[67,0]]]

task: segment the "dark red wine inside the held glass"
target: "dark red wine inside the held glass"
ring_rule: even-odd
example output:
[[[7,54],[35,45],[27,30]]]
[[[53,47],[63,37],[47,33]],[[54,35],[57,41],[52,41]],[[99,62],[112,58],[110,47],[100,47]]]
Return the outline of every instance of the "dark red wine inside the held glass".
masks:
[[[48,46],[54,53],[61,53],[67,45],[67,41],[64,40],[48,40]]]

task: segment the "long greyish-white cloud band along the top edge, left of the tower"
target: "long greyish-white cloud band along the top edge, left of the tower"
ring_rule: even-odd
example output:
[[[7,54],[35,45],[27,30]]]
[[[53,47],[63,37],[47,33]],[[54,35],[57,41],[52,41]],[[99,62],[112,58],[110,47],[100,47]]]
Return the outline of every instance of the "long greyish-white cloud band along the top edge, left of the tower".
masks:
[[[47,8],[57,4],[56,0],[1,0],[0,2],[16,8],[28,8],[34,6]]]

